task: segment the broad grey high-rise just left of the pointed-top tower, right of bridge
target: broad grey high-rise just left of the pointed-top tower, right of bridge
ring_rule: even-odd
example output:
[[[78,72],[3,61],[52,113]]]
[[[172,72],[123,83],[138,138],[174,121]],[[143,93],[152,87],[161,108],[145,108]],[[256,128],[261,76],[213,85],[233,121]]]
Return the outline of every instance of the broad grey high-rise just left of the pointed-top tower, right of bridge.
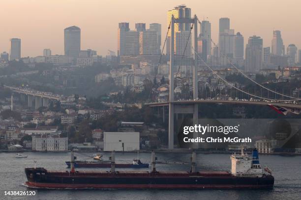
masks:
[[[245,71],[255,72],[262,69],[263,40],[259,36],[252,36],[248,39],[245,48]]]

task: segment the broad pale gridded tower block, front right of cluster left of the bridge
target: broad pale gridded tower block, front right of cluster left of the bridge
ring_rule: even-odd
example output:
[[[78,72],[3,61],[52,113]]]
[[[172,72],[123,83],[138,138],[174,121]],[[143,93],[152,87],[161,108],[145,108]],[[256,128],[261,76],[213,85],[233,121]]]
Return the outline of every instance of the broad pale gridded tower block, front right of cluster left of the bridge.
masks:
[[[140,55],[158,55],[159,43],[157,31],[141,31],[139,33]]]

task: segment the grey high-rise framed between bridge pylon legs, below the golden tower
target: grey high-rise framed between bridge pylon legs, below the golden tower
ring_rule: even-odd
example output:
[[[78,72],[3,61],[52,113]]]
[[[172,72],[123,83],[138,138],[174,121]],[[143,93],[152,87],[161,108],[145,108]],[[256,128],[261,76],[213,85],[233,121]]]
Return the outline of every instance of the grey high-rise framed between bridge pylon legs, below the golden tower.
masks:
[[[192,46],[191,46],[191,37],[189,37],[190,31],[179,31],[176,33],[176,55],[183,55],[185,57],[192,56]],[[189,39],[188,39],[189,38]],[[188,43],[187,43],[188,40]],[[187,45],[186,45],[187,44]]]

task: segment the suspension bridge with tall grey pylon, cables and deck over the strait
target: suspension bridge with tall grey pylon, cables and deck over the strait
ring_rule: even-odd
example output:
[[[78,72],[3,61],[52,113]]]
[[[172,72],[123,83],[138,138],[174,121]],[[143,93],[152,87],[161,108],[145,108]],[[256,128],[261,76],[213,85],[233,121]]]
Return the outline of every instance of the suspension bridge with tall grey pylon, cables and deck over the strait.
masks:
[[[185,51],[187,49],[187,44],[189,42],[191,32],[194,30],[193,34],[193,95],[190,97],[188,100],[186,99],[181,99],[181,100],[175,100],[175,93],[174,93],[174,81],[175,77],[178,77],[178,74],[180,72],[181,65],[179,65],[177,73],[175,73],[175,24],[190,24],[191,29],[189,32],[189,36],[186,41],[185,49],[183,51],[183,54],[181,56],[181,59],[185,58]],[[167,101],[163,102],[151,102],[151,103],[146,103],[147,105],[151,107],[155,106],[168,106],[169,107],[169,121],[168,121],[168,147],[169,149],[174,149],[174,136],[175,136],[175,131],[174,131],[174,115],[175,114],[193,114],[193,124],[199,124],[198,123],[198,106],[199,104],[205,104],[205,103],[219,103],[219,104],[242,104],[242,105],[269,105],[273,109],[279,109],[279,110],[286,110],[295,114],[299,114],[301,111],[301,105],[299,104],[299,101],[301,99],[292,97],[291,95],[286,95],[286,94],[281,94],[277,91],[273,91],[261,83],[256,82],[255,80],[251,79],[248,75],[246,75],[244,72],[242,72],[239,68],[237,68],[225,54],[220,52],[220,56],[224,59],[227,60],[228,63],[230,63],[231,67],[235,69],[238,73],[243,75],[245,78],[247,78],[249,81],[251,81],[253,84],[255,84],[257,87],[260,87],[261,90],[268,91],[268,94],[274,94],[275,99],[272,99],[269,97],[265,96],[259,96],[254,92],[254,94],[249,93],[244,91],[243,89],[233,85],[229,81],[227,81],[225,78],[221,77],[216,73],[212,67],[204,61],[202,56],[199,55],[197,52],[198,50],[198,24],[201,23],[197,16],[194,15],[193,18],[181,18],[181,19],[176,19],[174,16],[171,18],[171,22],[168,26],[168,30],[166,33],[165,37],[165,42],[163,45],[163,49],[161,52],[161,56],[159,59],[159,63],[157,66],[157,71],[155,72],[155,78],[158,72],[158,69],[160,67],[161,63],[161,57],[165,48],[165,44],[168,38],[168,33],[169,31],[171,32],[170,36],[170,59],[169,59],[169,99]],[[215,43],[211,40],[211,43],[213,43],[214,46]],[[201,63],[198,63],[198,61],[201,61]],[[226,85],[228,85],[230,88],[233,88],[237,91],[239,91],[241,94],[245,94],[248,97],[251,97],[251,99],[239,99],[239,98],[206,98],[202,99],[199,97],[199,90],[198,90],[198,68],[200,67],[201,64],[204,64],[205,67],[208,68],[212,72],[213,75],[217,76],[221,81],[223,81]],[[153,86],[152,86],[153,87]],[[153,91],[153,90],[152,90]],[[151,91],[151,93],[152,93]],[[151,95],[151,94],[150,94]],[[276,99],[276,97],[280,96],[282,99]],[[152,98],[151,98],[152,99]],[[193,137],[196,138],[198,136],[198,133],[194,132]],[[194,144],[194,148],[198,148],[198,144]]]

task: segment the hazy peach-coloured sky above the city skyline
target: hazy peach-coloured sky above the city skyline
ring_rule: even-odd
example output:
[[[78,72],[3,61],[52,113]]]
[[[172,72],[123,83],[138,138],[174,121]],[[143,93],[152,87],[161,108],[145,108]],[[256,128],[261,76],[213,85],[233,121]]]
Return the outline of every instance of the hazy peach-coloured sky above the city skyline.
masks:
[[[9,39],[21,38],[22,56],[63,54],[63,29],[81,28],[81,49],[117,50],[119,22],[162,24],[162,40],[167,31],[167,11],[186,4],[200,20],[208,17],[211,36],[217,43],[218,20],[230,18],[230,28],[241,32],[244,42],[251,35],[271,46],[273,29],[281,30],[287,47],[301,49],[301,0],[1,0],[0,51],[9,51]]]

